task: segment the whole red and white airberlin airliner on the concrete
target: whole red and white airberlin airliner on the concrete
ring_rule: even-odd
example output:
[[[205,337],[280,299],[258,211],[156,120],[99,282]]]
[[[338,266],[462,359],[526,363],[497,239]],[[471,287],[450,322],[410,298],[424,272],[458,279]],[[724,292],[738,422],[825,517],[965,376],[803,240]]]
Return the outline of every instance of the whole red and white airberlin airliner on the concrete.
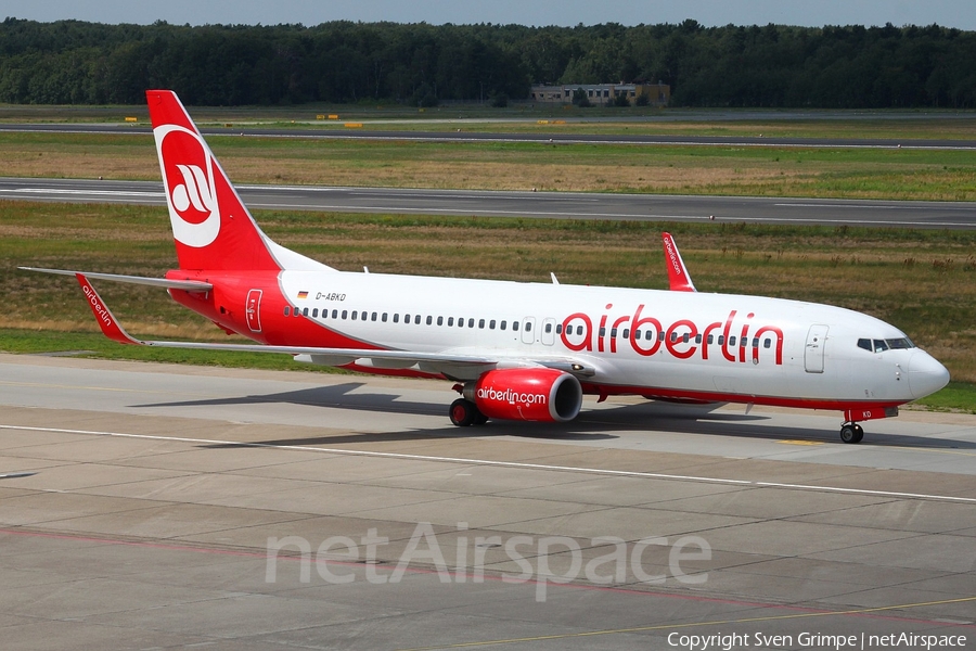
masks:
[[[698,293],[665,233],[670,291],[347,272],[275,244],[244,207],[171,91],[146,92],[179,269],[76,276],[103,332],[124,344],[261,350],[299,361],[439,378],[455,425],[565,422],[583,394],[743,403],[844,413],[858,423],[943,387],[949,373],[897,328],[848,309]],[[30,268],[27,268],[30,269]],[[90,280],[165,288],[257,344],[140,341]]]

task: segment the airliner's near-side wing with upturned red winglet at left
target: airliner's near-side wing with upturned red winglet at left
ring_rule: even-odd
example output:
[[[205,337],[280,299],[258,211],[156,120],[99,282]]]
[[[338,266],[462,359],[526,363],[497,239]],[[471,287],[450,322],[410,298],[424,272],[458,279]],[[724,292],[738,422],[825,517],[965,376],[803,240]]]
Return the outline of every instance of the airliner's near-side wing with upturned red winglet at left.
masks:
[[[61,271],[56,271],[63,273]],[[80,271],[72,272],[81,285],[81,291],[88,299],[95,320],[102,329],[102,332],[108,339],[120,344],[133,344],[138,346],[155,346],[159,348],[190,348],[203,350],[236,350],[246,353],[283,353],[286,355],[308,356],[308,361],[314,361],[324,366],[346,366],[354,362],[362,363],[368,360],[365,366],[375,368],[409,368],[419,365],[421,370],[427,372],[444,372],[446,369],[458,369],[458,367],[486,367],[490,368],[512,368],[512,367],[529,367],[541,366],[552,369],[566,371],[575,375],[591,376],[596,373],[596,369],[587,363],[585,360],[573,359],[564,356],[514,356],[511,354],[481,354],[478,352],[445,352],[445,353],[421,353],[418,350],[377,350],[371,348],[324,348],[316,346],[271,346],[265,344],[210,344],[204,342],[160,342],[160,341],[143,341],[131,336],[118,320],[99,293],[91,285],[86,273]],[[100,275],[108,276],[108,275]],[[92,275],[95,278],[95,275]],[[139,277],[125,277],[139,278]],[[144,279],[155,280],[155,279]],[[128,281],[124,281],[128,282]],[[208,283],[195,283],[193,281],[166,281],[167,283],[192,283],[193,289],[202,289],[198,285],[208,285]],[[145,283],[154,284],[154,283]],[[162,284],[160,286],[177,286],[178,289],[188,289],[176,284]],[[446,373],[455,374],[455,373]]]

